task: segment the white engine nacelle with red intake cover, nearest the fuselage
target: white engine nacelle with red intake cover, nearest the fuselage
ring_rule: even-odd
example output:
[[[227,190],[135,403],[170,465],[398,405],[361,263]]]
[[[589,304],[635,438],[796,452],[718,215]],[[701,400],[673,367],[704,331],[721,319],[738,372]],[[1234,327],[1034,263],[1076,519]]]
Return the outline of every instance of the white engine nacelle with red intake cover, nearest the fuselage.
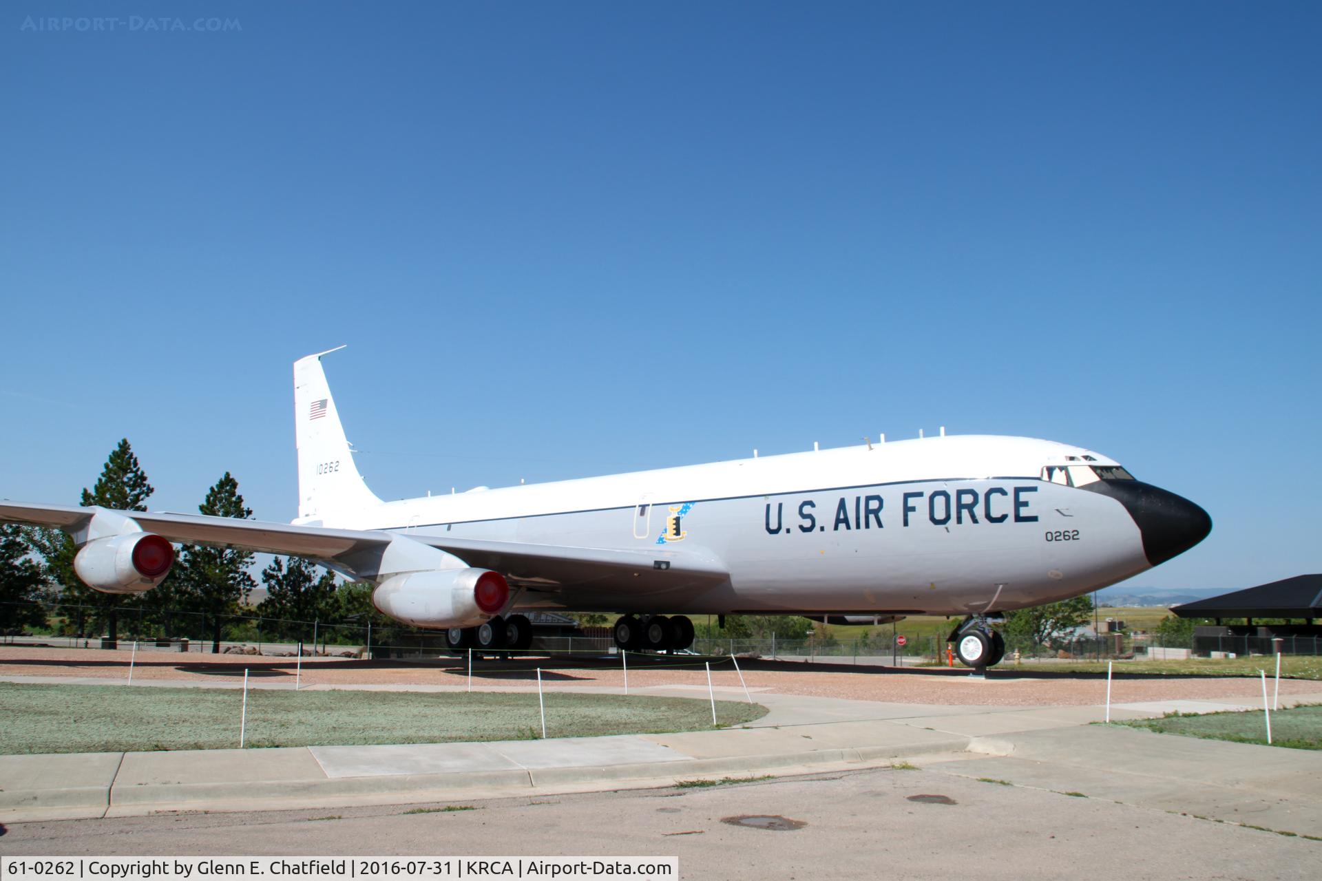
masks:
[[[471,627],[508,601],[505,576],[472,568],[395,575],[371,592],[378,612],[415,627]]]

